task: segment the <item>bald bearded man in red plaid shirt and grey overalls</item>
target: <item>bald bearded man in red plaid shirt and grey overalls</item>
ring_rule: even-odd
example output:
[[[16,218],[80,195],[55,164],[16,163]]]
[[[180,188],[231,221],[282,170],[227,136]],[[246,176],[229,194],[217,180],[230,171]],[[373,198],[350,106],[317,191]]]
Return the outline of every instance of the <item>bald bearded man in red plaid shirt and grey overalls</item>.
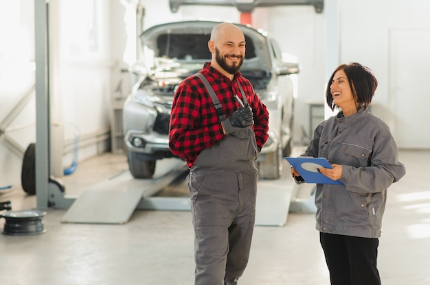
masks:
[[[249,259],[255,161],[268,138],[269,113],[239,72],[245,45],[236,25],[216,25],[211,62],[179,84],[172,103],[169,147],[190,169],[196,285],[238,284]]]

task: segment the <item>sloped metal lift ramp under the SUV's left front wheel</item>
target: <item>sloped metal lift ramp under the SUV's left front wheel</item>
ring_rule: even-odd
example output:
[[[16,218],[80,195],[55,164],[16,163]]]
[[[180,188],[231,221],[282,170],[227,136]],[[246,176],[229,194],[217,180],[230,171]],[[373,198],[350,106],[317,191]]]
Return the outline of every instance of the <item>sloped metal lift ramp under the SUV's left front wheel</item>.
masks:
[[[124,171],[87,188],[71,204],[61,222],[127,223],[142,200],[150,199],[188,171],[181,160],[166,160],[157,166],[154,179],[135,179],[130,172]]]

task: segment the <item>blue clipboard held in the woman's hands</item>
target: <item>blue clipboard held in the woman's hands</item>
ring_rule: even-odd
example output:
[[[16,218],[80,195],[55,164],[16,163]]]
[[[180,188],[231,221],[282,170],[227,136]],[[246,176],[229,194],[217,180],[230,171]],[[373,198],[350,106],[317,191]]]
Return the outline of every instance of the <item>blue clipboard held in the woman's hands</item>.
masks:
[[[299,156],[298,158],[285,158],[291,166],[302,176],[306,183],[318,183],[318,184],[340,184],[343,183],[340,180],[332,180],[326,175],[323,175],[317,171],[319,167],[326,169],[332,169],[330,163],[326,158],[311,158],[308,156]]]

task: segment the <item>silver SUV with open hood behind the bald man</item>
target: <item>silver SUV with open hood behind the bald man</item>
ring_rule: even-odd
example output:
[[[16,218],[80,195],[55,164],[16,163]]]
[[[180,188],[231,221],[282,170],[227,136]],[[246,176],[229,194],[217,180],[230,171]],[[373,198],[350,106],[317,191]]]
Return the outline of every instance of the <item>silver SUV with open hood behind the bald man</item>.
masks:
[[[140,36],[142,62],[133,66],[139,79],[123,109],[128,166],[135,178],[150,178],[157,160],[171,158],[168,147],[170,110],[179,82],[211,60],[207,48],[214,21],[183,21],[150,27]],[[269,110],[269,140],[258,160],[261,179],[282,175],[283,157],[293,146],[293,92],[291,75],[297,62],[286,62],[266,32],[240,25],[247,50],[240,68]]]

